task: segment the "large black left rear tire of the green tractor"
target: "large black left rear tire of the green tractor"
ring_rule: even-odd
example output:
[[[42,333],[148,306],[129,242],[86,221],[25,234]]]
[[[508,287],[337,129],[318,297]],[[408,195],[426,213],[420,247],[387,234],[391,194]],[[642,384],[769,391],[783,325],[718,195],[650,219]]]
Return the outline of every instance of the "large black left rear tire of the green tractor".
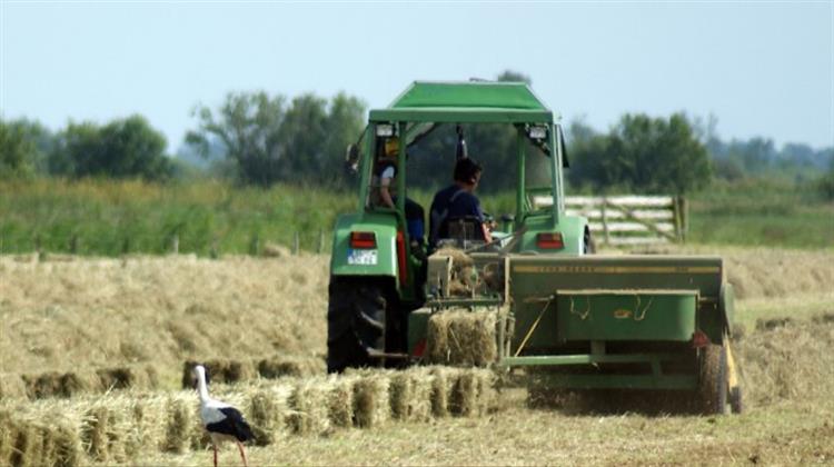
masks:
[[[327,307],[327,371],[373,366],[369,350],[385,351],[383,289],[374,284],[334,280]]]

